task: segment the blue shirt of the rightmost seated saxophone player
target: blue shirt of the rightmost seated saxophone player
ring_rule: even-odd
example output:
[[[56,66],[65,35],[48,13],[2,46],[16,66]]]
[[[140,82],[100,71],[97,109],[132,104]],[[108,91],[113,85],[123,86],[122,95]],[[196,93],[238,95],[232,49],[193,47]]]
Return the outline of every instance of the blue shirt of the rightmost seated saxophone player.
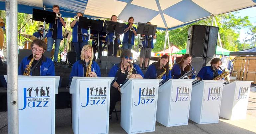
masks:
[[[213,80],[214,79],[213,73],[214,73],[214,71],[212,69],[212,66],[206,66],[206,67],[203,67],[199,71],[199,73],[197,74],[197,77],[200,77],[202,80]],[[216,73],[218,73],[218,75],[220,75],[222,73],[222,71],[217,69]]]

